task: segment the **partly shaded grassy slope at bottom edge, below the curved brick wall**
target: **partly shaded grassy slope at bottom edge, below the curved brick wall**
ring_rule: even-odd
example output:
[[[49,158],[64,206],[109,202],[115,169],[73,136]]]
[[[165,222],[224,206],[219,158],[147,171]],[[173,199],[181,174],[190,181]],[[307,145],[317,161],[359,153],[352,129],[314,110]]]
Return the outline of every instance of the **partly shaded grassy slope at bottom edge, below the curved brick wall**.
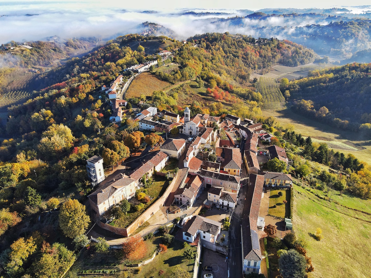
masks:
[[[146,241],[147,243],[147,255],[146,258],[151,257],[154,251],[158,248],[158,244],[161,243],[161,237],[156,237],[152,240]],[[155,259],[147,265],[142,265],[139,268],[128,268],[122,261],[122,250],[110,250],[107,254],[99,254],[91,250],[84,250],[80,257],[76,260],[70,269],[71,274],[83,274],[83,277],[88,278],[100,278],[100,277],[131,277],[131,278],[143,278],[143,277],[157,277],[158,272],[162,269],[164,273],[161,277],[170,277],[171,272],[178,265],[182,269],[186,269],[189,272],[193,272],[194,259],[186,259],[183,256],[183,242],[174,240],[164,254],[158,254]],[[102,270],[112,271],[114,274],[85,274],[84,271]],[[139,271],[138,271],[139,270]],[[104,272],[103,272],[104,273]]]

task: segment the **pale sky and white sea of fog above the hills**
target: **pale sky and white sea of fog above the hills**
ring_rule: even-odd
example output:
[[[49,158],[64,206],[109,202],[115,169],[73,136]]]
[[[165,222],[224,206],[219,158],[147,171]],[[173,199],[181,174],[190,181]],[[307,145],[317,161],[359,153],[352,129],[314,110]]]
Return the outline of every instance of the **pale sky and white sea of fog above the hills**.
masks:
[[[367,3],[368,2],[368,3]],[[369,5],[370,0],[354,0],[352,6]],[[229,26],[211,26],[205,24],[208,16],[183,16],[180,9],[204,9],[204,11],[224,11],[223,17],[246,16],[238,9],[259,10],[263,8],[329,8],[347,6],[349,1],[203,1],[203,0],[39,0],[39,1],[3,1],[0,0],[0,44],[15,40],[41,40],[48,36],[62,38],[81,36],[114,37],[137,32],[136,26],[143,21],[163,24],[173,29],[186,39],[204,32],[239,32],[247,34],[249,30],[229,30]],[[355,12],[371,9],[351,8]],[[123,10],[126,10],[124,12]],[[156,10],[156,14],[143,14],[143,10]],[[213,16],[222,17],[222,16]],[[270,24],[270,23],[265,23]],[[272,23],[273,24],[273,23]],[[286,24],[286,23],[285,23]]]

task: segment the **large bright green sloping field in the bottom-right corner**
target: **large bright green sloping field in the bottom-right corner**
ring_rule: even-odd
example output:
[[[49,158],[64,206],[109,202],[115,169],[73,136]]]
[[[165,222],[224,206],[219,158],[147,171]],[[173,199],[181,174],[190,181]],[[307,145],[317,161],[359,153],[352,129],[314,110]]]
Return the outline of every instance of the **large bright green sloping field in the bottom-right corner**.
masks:
[[[371,220],[370,215],[322,200],[301,186],[293,185],[293,190],[293,228],[308,241],[307,254],[312,257],[315,268],[310,277],[370,277],[367,242],[371,238],[371,223],[366,222]],[[349,196],[336,199],[342,205],[370,210],[370,201],[357,199],[359,204]],[[352,215],[366,221],[355,219]],[[323,231],[322,241],[316,241],[309,235],[316,228]]]

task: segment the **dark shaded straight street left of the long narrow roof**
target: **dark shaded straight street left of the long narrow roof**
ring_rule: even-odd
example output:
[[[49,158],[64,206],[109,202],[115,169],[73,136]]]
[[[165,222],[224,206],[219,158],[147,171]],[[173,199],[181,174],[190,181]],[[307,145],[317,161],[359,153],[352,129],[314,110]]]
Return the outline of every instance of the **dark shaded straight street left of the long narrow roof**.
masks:
[[[229,228],[228,269],[230,278],[242,278],[242,247],[241,247],[241,217],[247,186],[243,186],[239,192],[238,205],[234,209]]]

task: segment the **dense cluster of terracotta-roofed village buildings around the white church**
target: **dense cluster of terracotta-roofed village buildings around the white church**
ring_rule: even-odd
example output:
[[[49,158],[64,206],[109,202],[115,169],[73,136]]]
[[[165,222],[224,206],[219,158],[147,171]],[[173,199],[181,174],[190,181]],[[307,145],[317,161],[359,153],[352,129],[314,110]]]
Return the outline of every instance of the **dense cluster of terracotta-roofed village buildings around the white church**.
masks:
[[[111,86],[111,89],[114,88]],[[114,115],[119,115],[115,109],[121,112],[124,111],[121,107],[127,105],[127,101],[118,99],[111,100],[111,103]],[[176,221],[180,229],[175,238],[191,246],[207,248],[216,252],[215,255],[223,255],[225,270],[230,269],[233,261],[237,262],[241,273],[261,273],[259,233],[263,233],[265,219],[259,211],[263,187],[290,188],[292,179],[289,174],[260,171],[259,163],[278,159],[286,163],[288,169],[290,162],[285,149],[264,145],[258,151],[258,142],[269,143],[274,136],[267,133],[261,123],[234,115],[226,115],[224,119],[207,114],[191,116],[190,108],[186,107],[184,116],[180,117],[167,110],[148,107],[138,112],[134,120],[138,122],[140,131],[160,131],[168,138],[160,140],[148,152],[145,149],[142,156],[136,156],[141,158],[139,163],[132,158],[128,160],[133,162],[125,163],[135,166],[116,170],[107,178],[103,175],[103,158],[93,156],[87,160],[88,175],[92,184],[97,186],[89,195],[97,224],[126,238],[135,234],[144,223],[151,225],[141,230],[141,236]],[[176,135],[170,133],[174,129],[178,130]],[[170,164],[173,169],[167,167]],[[170,171],[162,171],[164,168]],[[123,200],[138,202],[138,190],[145,188],[156,175],[166,175],[171,179],[162,196],[158,196],[131,224],[121,228],[110,225],[115,221],[112,208]],[[266,212],[266,209],[264,207],[262,211]],[[199,215],[206,210],[207,216]],[[165,217],[158,220],[158,215]],[[241,220],[231,221],[232,217]],[[225,229],[229,225],[229,231],[242,228],[237,239],[230,242]],[[125,238],[108,241],[108,244],[119,248]],[[235,248],[242,250],[242,254],[237,255]]]

